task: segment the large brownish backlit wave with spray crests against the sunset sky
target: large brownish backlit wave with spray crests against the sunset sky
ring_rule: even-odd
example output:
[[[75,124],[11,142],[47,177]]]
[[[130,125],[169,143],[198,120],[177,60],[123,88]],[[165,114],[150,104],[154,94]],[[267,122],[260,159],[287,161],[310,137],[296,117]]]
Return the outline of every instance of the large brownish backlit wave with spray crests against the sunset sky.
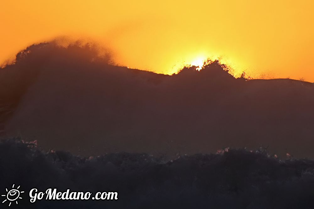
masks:
[[[214,60],[163,75],[112,64],[89,45],[44,43],[0,69],[3,136],[84,156],[216,152],[314,158],[314,85],[236,79]]]

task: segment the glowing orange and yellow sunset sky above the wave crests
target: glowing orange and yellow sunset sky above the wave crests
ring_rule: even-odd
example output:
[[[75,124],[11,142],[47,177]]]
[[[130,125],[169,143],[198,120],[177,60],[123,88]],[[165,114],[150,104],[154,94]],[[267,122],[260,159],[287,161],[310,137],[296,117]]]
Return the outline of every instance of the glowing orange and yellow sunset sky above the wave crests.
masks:
[[[313,11],[304,0],[0,1],[0,62],[69,35],[95,39],[117,63],[142,70],[173,73],[222,57],[252,77],[314,82]]]

